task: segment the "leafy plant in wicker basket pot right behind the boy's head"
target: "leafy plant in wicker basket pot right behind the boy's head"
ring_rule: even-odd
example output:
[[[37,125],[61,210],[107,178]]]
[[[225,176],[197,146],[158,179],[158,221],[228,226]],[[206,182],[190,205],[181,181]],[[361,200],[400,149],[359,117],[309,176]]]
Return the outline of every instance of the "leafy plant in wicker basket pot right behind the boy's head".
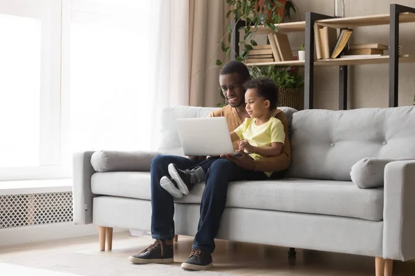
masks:
[[[297,67],[254,66],[250,69],[252,78],[269,77],[279,89],[278,106],[289,106],[299,109],[299,88],[304,84],[304,78]]]

